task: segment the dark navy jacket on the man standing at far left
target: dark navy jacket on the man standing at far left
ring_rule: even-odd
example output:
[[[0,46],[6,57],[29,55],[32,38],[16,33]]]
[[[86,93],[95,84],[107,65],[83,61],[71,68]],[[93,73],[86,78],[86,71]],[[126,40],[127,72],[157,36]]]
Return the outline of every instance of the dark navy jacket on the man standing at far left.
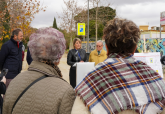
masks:
[[[8,69],[6,79],[13,79],[22,70],[22,42],[19,43],[11,37],[10,40],[5,42],[0,51],[0,70],[3,68]]]

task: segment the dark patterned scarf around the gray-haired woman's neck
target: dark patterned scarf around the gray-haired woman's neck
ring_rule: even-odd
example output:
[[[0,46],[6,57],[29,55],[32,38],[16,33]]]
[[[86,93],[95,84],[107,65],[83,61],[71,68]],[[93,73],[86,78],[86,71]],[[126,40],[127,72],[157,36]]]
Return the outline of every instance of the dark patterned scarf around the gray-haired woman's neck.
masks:
[[[50,61],[50,60],[39,60],[39,61],[42,62],[42,63],[45,63],[47,65],[52,66],[56,70],[56,72],[58,73],[58,75],[60,77],[62,77],[61,70],[59,69],[59,67],[57,65],[53,64],[52,61]]]

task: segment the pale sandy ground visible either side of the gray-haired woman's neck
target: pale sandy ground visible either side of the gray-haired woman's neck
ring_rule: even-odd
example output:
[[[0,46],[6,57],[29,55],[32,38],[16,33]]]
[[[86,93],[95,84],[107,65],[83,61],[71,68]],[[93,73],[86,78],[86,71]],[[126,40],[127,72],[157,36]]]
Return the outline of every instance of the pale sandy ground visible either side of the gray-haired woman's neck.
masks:
[[[62,75],[63,75],[63,78],[69,82],[69,69],[70,69],[70,66],[67,65],[67,54],[65,53],[61,60],[60,60],[60,64],[58,65],[61,72],[62,72]],[[26,71],[28,69],[28,64],[26,62],[26,53],[25,53],[25,57],[24,57],[24,61],[23,61],[23,66],[22,66],[22,72],[23,71]]]

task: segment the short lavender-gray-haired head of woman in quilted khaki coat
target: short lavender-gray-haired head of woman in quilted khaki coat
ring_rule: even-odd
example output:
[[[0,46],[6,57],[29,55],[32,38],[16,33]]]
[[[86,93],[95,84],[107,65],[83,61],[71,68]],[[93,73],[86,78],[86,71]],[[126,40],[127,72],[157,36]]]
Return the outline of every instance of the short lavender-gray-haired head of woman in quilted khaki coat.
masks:
[[[28,42],[34,61],[50,60],[58,63],[64,54],[66,41],[63,33],[54,28],[40,28],[33,33]]]

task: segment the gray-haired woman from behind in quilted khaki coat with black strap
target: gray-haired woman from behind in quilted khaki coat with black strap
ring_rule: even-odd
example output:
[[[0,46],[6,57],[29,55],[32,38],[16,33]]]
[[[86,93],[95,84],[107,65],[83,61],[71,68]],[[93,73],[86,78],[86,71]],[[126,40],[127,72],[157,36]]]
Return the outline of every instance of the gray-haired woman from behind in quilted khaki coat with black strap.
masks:
[[[73,88],[58,68],[65,51],[64,35],[54,28],[41,28],[29,38],[32,63],[16,76],[5,94],[3,114],[70,114]]]

